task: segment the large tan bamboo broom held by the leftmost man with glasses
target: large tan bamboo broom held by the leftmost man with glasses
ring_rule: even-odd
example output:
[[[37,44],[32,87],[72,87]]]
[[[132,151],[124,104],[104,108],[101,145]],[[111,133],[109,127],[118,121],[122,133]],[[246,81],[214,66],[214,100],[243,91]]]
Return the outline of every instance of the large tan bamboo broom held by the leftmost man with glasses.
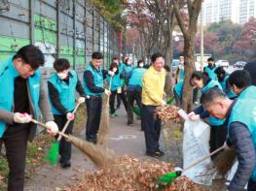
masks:
[[[38,124],[46,129],[49,129],[44,123],[37,121],[35,119],[31,119],[31,122]],[[72,143],[74,146],[79,148],[83,153],[85,153],[91,161],[100,168],[105,168],[107,165],[112,164],[114,162],[114,151],[103,148],[100,145],[95,145],[93,143],[89,143],[85,140],[81,140],[71,135],[66,135],[60,131],[57,132],[58,135],[64,137],[68,142]]]

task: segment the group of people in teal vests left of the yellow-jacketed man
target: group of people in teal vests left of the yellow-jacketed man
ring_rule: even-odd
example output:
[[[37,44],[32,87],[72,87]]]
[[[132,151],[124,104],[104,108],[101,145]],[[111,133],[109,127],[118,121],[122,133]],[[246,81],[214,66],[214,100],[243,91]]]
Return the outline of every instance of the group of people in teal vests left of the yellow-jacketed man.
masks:
[[[56,130],[61,131],[67,121],[70,123],[65,133],[72,134],[73,111],[78,104],[86,103],[85,139],[97,143],[102,94],[106,94],[110,96],[111,116],[116,115],[114,103],[118,95],[127,110],[128,125],[133,124],[133,102],[142,107],[144,62],[139,60],[133,67],[127,56],[121,63],[113,58],[109,70],[102,69],[102,62],[102,53],[93,52],[81,82],[67,59],[55,59],[55,72],[47,80],[47,90],[39,70],[45,63],[39,48],[32,45],[19,48],[14,56],[0,64],[0,143],[6,148],[9,191],[23,190],[27,142],[32,142],[38,131],[32,119],[40,120],[43,116],[48,133],[57,139]],[[105,82],[109,88],[105,88]],[[69,168],[70,160],[71,143],[61,139],[59,164],[62,168]]]

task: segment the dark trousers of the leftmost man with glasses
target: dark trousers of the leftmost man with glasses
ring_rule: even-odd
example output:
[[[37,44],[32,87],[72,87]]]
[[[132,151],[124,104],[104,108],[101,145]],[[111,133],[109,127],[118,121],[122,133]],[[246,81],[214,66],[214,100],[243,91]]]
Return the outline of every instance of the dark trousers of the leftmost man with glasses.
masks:
[[[9,126],[1,139],[6,147],[6,158],[10,170],[8,191],[22,191],[24,187],[28,128],[28,124]]]

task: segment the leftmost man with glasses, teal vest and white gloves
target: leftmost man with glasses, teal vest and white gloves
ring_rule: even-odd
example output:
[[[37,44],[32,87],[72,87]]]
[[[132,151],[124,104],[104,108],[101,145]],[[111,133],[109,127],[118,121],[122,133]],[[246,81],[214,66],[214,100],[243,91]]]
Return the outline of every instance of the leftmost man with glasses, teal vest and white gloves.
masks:
[[[0,140],[5,144],[10,174],[8,190],[23,190],[27,141],[36,135],[37,119],[42,112],[49,133],[57,128],[48,96],[37,70],[45,62],[44,54],[29,45],[0,65]]]

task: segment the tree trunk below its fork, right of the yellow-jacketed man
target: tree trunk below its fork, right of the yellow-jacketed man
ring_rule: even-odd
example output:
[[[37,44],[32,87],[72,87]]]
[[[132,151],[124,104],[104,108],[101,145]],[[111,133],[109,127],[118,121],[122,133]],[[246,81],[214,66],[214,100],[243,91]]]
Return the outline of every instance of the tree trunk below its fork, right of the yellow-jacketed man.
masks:
[[[191,32],[193,34],[193,32]],[[182,109],[184,111],[191,111],[193,104],[193,87],[190,84],[190,78],[195,71],[195,39],[193,35],[190,35],[189,39],[185,39],[184,42],[184,59],[186,61],[185,67],[185,80],[182,94]]]

